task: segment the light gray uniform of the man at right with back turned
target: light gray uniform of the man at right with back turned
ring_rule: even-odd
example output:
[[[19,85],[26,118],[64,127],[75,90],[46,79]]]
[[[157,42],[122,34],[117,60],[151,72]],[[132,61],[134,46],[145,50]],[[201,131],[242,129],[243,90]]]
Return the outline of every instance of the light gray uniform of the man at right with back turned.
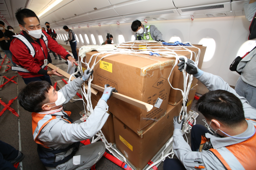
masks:
[[[244,97],[241,97],[236,94],[236,91],[231,88],[226,82],[224,82],[219,76],[204,72],[199,78],[197,78],[203,85],[205,85],[210,91],[213,90],[226,90],[236,95],[240,99],[243,104],[244,116],[247,119],[256,120],[256,109],[250,106],[247,100]],[[251,136],[255,133],[255,125],[256,121],[246,120],[248,127],[245,132],[242,134],[236,135],[235,137],[247,137]],[[226,168],[222,165],[222,163],[218,160],[214,153],[211,151],[202,151],[202,152],[192,152],[189,144],[184,140],[181,130],[174,130],[174,143],[173,149],[178,157],[178,159],[182,162],[187,170],[198,170],[195,167],[199,165],[204,166],[205,170],[226,170]],[[232,137],[218,137],[215,133],[214,135],[210,135],[209,133],[205,134],[207,138],[210,138],[213,148],[223,149],[226,146],[234,145],[240,142],[243,142],[246,139],[235,139]],[[249,156],[249,155],[248,155]],[[236,158],[236,157],[235,157]],[[194,161],[200,161],[202,164],[198,164]],[[226,160],[228,163],[228,161]],[[241,169],[241,164],[236,159],[232,160],[232,165],[230,165],[232,170],[243,170]]]

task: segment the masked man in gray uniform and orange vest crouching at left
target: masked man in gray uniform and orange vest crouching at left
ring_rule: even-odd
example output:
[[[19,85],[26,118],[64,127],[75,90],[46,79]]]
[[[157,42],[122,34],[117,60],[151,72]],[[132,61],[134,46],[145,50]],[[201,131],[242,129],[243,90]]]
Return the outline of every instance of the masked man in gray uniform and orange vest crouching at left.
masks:
[[[115,88],[105,85],[101,99],[85,122],[79,119],[72,123],[70,113],[62,108],[92,73],[90,69],[85,70],[81,78],[71,81],[58,92],[48,82],[37,81],[29,83],[19,93],[20,105],[33,112],[33,137],[38,144],[39,158],[47,170],[89,170],[105,152],[101,141],[82,147],[79,143],[95,136],[105,124],[109,116],[107,100]]]

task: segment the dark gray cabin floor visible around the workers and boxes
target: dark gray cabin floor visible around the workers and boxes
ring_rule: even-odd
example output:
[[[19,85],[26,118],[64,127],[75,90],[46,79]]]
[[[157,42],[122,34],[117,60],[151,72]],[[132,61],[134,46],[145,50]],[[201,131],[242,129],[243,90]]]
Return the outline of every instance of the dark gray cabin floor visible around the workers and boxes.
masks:
[[[1,52],[0,54],[2,58],[4,58],[5,53]],[[59,58],[55,59],[52,53],[50,53],[50,55],[53,61],[52,64],[56,66],[62,65],[62,67],[66,67],[67,69],[68,65],[65,65],[65,60],[59,60]],[[0,64],[1,62],[2,60],[0,60]],[[13,66],[11,63],[3,64],[3,66],[5,65]],[[6,76],[7,78],[17,76],[13,80],[17,82],[18,85],[14,84],[13,82],[8,82],[0,90],[1,100],[7,104],[11,99],[17,97],[19,91],[25,87],[25,83],[22,80],[21,76],[18,73],[12,71],[11,69],[9,69],[6,73],[1,73],[0,76]],[[52,77],[52,84],[54,85],[55,81],[61,80],[62,78],[63,77],[58,76]],[[4,80],[4,82],[6,82],[6,80]],[[56,90],[59,90],[59,88],[57,87]],[[73,103],[68,102],[65,105],[66,110],[70,110],[72,112],[71,119],[75,121],[81,118],[79,112],[83,110],[82,101],[77,101]],[[193,102],[191,109],[197,111],[195,105],[196,101]],[[8,110],[6,110],[0,116],[0,140],[12,145],[17,150],[20,150],[22,151],[22,153],[24,153],[25,158],[20,163],[18,170],[46,170],[41,161],[39,160],[39,156],[37,153],[37,144],[33,140],[31,113],[24,110],[19,105],[18,100],[13,102],[10,107],[13,108],[20,115],[20,117],[16,117]],[[2,110],[3,108],[3,105],[0,104],[0,110]],[[202,121],[202,119],[204,119],[204,117],[201,113],[199,113],[199,116],[197,117],[197,124],[204,125],[205,123]],[[187,137],[190,144],[190,134],[188,134]],[[158,166],[158,170],[163,170],[162,167],[163,162]],[[122,168],[118,167],[116,164],[112,163],[105,157],[102,157],[96,164],[96,170],[122,170]]]

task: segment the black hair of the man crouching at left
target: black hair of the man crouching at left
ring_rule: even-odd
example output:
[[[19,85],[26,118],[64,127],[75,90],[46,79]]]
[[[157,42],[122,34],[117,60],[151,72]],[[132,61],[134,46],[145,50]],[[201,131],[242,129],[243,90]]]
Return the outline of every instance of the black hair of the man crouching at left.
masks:
[[[40,112],[43,104],[49,102],[51,85],[46,81],[30,82],[18,95],[20,105],[29,112]]]

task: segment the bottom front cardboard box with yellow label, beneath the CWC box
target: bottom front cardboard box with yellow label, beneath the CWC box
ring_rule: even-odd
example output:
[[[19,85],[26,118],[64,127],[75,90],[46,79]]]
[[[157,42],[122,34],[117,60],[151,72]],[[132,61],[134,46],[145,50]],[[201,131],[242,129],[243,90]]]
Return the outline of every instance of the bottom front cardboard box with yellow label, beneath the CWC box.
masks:
[[[166,115],[141,136],[114,116],[116,146],[137,170],[142,170],[173,135],[173,118],[179,115],[181,104],[182,100],[175,106],[168,104]]]

